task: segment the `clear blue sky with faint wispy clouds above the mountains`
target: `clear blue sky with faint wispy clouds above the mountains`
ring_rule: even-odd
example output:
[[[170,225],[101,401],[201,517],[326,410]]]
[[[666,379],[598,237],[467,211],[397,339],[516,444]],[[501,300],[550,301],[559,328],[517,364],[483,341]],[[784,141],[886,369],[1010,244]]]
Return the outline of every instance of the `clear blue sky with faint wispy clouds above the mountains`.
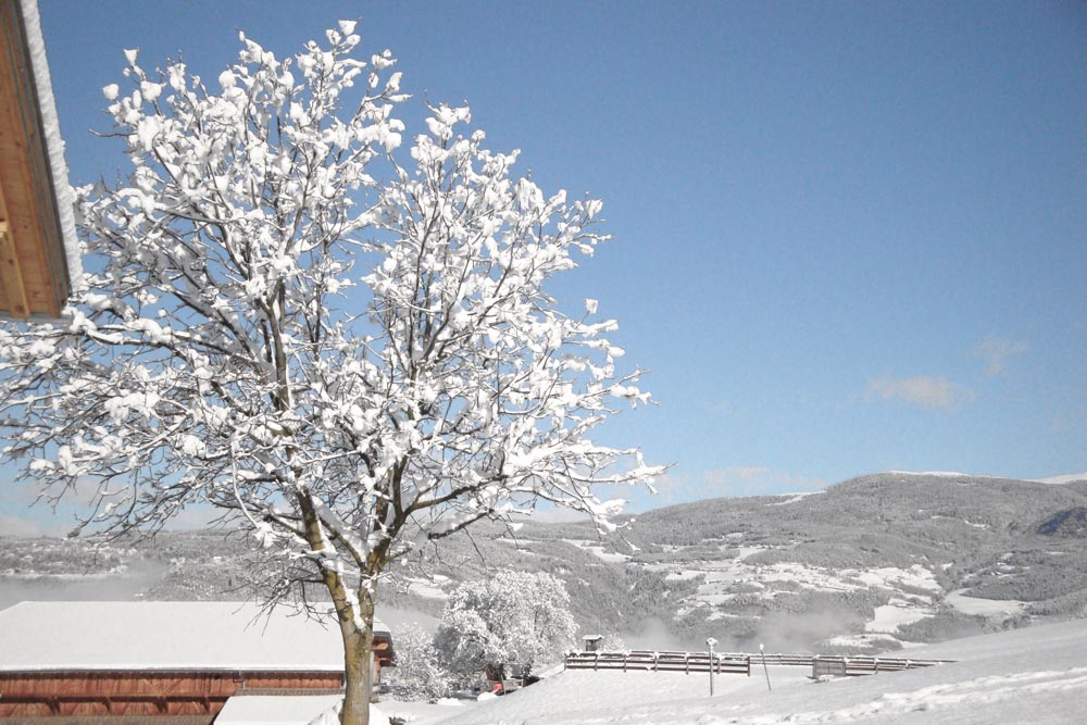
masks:
[[[652,371],[659,405],[600,434],[675,464],[636,509],[1087,471],[1080,3],[39,4],[75,183],[123,164],[87,133],[122,49],[213,78],[238,29],[283,55],[360,18],[416,111],[467,101],[546,189],[603,199],[615,239],[557,292]]]

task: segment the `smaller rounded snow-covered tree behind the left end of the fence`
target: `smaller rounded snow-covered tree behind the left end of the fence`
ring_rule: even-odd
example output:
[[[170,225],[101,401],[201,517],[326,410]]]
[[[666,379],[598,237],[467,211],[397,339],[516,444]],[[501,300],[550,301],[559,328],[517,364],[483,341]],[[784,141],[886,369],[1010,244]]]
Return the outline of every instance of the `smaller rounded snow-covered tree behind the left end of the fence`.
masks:
[[[562,580],[544,572],[503,571],[458,586],[435,636],[439,654],[462,682],[517,662],[529,670],[558,661],[577,625]]]

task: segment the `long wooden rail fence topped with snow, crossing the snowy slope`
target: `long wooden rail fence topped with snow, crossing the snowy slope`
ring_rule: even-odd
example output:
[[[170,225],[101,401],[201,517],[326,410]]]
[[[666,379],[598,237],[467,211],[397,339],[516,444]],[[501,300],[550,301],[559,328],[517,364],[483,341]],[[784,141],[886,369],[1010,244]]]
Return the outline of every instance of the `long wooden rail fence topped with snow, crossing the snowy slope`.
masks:
[[[748,654],[746,652],[649,651],[623,652],[567,652],[566,670],[648,670],[651,672],[713,672],[751,676],[751,665],[762,664],[812,667],[827,674],[874,675],[879,672],[900,672],[930,667],[953,660],[913,660],[902,658],[840,657],[824,654]]]

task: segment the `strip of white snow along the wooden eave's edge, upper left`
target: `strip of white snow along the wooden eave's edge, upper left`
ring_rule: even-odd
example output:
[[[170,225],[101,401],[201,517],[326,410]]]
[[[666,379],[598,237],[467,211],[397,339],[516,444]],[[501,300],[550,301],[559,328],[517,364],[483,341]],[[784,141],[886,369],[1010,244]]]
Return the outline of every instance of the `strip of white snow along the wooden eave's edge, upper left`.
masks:
[[[49,76],[49,60],[46,57],[46,41],[41,35],[41,16],[38,0],[18,0],[26,30],[26,46],[30,54],[34,86],[38,93],[38,112],[41,114],[41,133],[49,155],[49,171],[53,196],[57,198],[57,215],[60,217],[61,241],[67,262],[68,282],[76,290],[83,285],[83,259],[79,254],[79,238],[75,230],[75,199],[68,182],[67,163],[64,161],[64,139],[61,137],[60,117],[57,115],[57,100]]]

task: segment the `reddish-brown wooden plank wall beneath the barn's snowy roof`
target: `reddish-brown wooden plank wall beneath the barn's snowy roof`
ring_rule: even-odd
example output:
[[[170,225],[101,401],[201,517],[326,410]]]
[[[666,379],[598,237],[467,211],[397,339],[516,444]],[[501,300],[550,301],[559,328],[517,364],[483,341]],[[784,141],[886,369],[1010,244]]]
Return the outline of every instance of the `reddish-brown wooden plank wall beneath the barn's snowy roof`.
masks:
[[[268,691],[340,692],[341,672],[49,671],[0,672],[0,720],[200,716],[227,699]]]

